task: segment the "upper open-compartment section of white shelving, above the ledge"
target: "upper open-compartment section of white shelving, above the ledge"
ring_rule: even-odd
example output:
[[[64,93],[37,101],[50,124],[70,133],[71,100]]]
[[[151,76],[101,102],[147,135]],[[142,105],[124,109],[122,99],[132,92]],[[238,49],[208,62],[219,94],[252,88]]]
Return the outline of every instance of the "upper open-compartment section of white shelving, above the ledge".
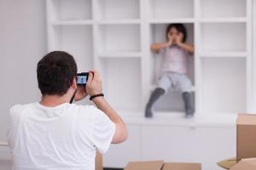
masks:
[[[47,0],[48,48],[73,54],[79,71],[100,70],[110,103],[142,116],[162,62],[149,46],[166,41],[169,23],[183,23],[195,45],[188,74],[196,114],[247,112],[253,100],[251,6],[251,0]],[[180,94],[170,91],[155,108],[183,111]]]

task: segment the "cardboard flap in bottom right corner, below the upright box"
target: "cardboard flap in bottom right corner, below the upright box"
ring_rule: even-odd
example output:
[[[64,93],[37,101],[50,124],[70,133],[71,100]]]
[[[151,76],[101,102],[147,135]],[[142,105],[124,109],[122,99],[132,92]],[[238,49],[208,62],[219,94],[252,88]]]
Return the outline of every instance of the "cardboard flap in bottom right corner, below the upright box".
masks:
[[[256,170],[256,158],[242,159],[230,170]]]

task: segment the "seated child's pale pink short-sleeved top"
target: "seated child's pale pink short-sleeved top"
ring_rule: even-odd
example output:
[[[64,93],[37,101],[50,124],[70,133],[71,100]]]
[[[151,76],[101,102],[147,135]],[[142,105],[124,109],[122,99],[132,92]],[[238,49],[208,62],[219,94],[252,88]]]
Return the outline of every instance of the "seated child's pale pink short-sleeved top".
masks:
[[[187,58],[189,56],[188,52],[182,48],[172,45],[171,47],[164,48],[164,72],[174,72],[179,74],[187,73]]]

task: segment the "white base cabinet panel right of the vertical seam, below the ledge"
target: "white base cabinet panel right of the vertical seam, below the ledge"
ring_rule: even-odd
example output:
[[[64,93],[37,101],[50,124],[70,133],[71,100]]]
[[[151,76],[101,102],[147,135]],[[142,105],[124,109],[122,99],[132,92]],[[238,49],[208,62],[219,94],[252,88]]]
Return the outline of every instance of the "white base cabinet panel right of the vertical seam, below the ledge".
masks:
[[[142,160],[201,162],[202,169],[216,170],[235,150],[233,127],[142,127]]]

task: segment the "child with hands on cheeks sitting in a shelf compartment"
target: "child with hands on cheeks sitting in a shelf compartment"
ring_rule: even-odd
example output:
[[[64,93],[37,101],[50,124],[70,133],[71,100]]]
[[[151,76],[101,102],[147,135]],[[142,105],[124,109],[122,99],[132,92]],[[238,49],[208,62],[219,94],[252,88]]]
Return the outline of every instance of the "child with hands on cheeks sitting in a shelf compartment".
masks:
[[[187,31],[183,24],[170,24],[166,29],[166,42],[154,43],[151,50],[155,53],[162,53],[164,62],[162,65],[162,75],[150,96],[146,106],[145,116],[152,117],[152,106],[155,101],[165,94],[171,87],[180,88],[184,102],[186,117],[194,115],[192,106],[192,83],[187,73],[187,58],[189,54],[194,54],[194,47],[186,43]]]

